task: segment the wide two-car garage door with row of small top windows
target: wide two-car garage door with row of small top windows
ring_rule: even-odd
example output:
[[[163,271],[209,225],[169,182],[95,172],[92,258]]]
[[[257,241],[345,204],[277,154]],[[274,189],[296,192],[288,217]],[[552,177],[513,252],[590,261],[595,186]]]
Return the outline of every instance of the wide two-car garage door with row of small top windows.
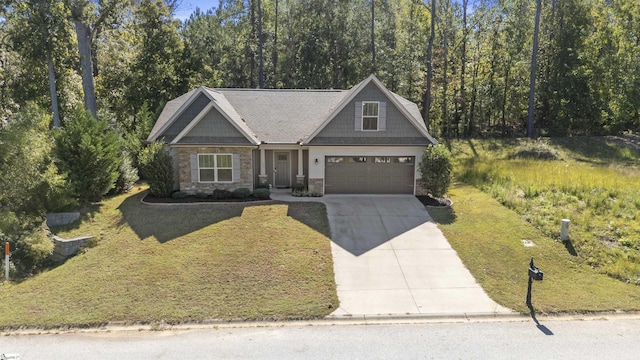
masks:
[[[414,156],[326,156],[326,194],[413,194]]]

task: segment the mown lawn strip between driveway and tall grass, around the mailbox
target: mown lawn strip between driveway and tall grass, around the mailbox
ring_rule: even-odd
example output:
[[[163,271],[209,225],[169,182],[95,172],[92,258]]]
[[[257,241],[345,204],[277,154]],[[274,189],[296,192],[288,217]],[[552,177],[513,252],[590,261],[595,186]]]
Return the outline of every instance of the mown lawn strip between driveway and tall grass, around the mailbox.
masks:
[[[464,184],[449,191],[451,209],[429,209],[465,266],[489,296],[526,313],[529,259],[544,272],[532,302],[543,313],[640,310],[640,287],[594,271],[490,195]],[[536,246],[524,247],[522,240]]]

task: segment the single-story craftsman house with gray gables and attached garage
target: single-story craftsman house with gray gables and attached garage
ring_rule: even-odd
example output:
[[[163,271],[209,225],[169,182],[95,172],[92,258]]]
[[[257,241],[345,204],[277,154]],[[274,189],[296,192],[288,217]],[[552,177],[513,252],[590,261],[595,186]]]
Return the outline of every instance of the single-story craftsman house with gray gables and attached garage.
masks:
[[[436,143],[416,104],[373,75],[350,90],[200,87],[166,104],[147,140],[159,139],[176,189],[304,183],[321,194],[420,193],[417,163]]]

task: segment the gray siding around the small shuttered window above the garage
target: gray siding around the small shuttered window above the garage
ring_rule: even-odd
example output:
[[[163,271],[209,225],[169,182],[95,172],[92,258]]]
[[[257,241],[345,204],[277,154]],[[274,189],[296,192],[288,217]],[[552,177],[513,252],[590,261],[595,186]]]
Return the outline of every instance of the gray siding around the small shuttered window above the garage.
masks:
[[[386,102],[386,129],[384,131],[355,130],[356,103],[362,101]],[[407,144],[405,142],[407,140],[411,145],[430,143],[378,87],[373,83],[369,83],[309,144],[394,145]]]

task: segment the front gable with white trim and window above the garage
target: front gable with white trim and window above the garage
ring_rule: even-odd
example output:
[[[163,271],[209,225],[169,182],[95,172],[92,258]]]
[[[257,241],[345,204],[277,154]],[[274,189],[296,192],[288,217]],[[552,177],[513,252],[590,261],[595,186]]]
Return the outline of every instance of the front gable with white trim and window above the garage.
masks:
[[[428,145],[433,141],[422,119],[410,111],[377,79],[354,88],[352,96],[306,141],[308,145]],[[364,111],[363,111],[364,109]],[[377,111],[371,112],[371,109]],[[374,114],[373,117],[366,115]],[[364,115],[364,116],[363,116]],[[367,119],[368,118],[368,119]]]

